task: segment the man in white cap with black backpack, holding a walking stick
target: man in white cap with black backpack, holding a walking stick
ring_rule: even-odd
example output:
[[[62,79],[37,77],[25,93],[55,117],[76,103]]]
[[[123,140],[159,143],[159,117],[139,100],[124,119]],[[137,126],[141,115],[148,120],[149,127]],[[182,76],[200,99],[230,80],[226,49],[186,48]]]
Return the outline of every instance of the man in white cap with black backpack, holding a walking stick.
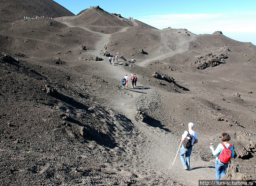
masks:
[[[181,145],[179,150],[179,157],[183,165],[183,170],[191,170],[190,169],[191,151],[192,151],[193,145],[198,142],[197,133],[193,131],[193,127],[194,127],[193,123],[191,122],[188,123],[188,131],[185,131],[181,138],[181,140],[183,141],[183,144]],[[187,145],[187,142],[189,142],[188,145]]]

